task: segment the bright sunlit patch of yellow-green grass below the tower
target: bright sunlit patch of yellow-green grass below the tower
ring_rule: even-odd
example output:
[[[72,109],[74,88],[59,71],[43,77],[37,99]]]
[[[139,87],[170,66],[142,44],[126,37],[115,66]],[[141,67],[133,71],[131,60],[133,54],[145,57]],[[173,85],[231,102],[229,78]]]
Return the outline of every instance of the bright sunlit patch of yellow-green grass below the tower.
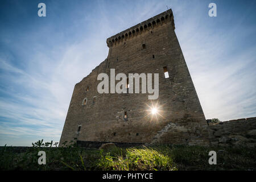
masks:
[[[103,170],[176,170],[171,156],[163,155],[153,148],[112,148],[101,152],[97,162],[98,169]]]

